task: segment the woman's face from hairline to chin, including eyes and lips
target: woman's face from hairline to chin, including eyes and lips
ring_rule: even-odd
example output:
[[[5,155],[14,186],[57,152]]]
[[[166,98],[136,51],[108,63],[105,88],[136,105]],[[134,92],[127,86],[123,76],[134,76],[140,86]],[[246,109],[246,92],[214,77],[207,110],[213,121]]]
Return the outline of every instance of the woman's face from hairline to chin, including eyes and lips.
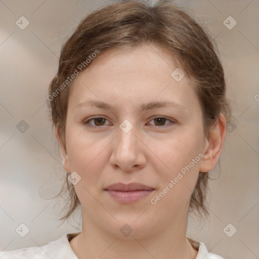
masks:
[[[69,96],[64,169],[80,179],[83,222],[119,237],[124,224],[140,238],[186,222],[199,170],[207,169],[192,81],[173,78],[171,55],[151,46],[100,53]],[[109,188],[116,183],[126,189]]]

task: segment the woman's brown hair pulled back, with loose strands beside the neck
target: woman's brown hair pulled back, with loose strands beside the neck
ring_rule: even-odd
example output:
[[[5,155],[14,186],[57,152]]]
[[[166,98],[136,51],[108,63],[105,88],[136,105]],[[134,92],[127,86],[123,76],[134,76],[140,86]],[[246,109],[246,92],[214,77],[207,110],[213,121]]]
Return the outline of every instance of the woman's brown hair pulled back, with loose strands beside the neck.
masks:
[[[218,48],[213,45],[206,29],[191,18],[185,8],[169,0],[158,1],[154,5],[148,1],[118,2],[85,17],[62,47],[58,72],[51,81],[48,96],[51,120],[57,129],[60,145],[66,147],[65,125],[72,82],[64,85],[66,79],[97,50],[102,53],[111,48],[134,47],[141,43],[152,43],[169,50],[174,55],[176,67],[192,78],[202,107],[204,135],[207,138],[220,113],[224,114],[227,123],[233,121]],[[85,64],[83,69],[89,65],[91,63]],[[68,193],[69,208],[62,220],[66,220],[80,204],[68,176],[58,194]],[[197,211],[200,217],[203,213],[208,215],[208,179],[208,172],[199,172],[190,199],[189,211]]]

